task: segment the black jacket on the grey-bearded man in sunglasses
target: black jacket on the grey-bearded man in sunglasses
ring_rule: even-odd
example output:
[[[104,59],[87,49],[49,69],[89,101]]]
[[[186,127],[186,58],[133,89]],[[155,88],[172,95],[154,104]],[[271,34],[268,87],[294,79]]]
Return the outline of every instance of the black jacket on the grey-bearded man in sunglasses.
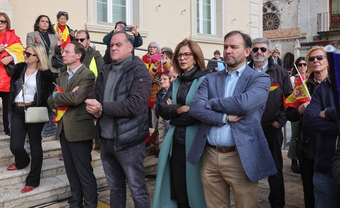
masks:
[[[254,61],[248,65],[253,68]],[[286,125],[286,108],[283,103],[283,96],[288,98],[293,92],[288,71],[282,66],[274,64],[272,58],[268,58],[268,69],[265,71],[271,79],[271,89],[269,91],[265,112],[263,112],[261,125],[263,127],[271,126],[274,121],[281,126]]]

